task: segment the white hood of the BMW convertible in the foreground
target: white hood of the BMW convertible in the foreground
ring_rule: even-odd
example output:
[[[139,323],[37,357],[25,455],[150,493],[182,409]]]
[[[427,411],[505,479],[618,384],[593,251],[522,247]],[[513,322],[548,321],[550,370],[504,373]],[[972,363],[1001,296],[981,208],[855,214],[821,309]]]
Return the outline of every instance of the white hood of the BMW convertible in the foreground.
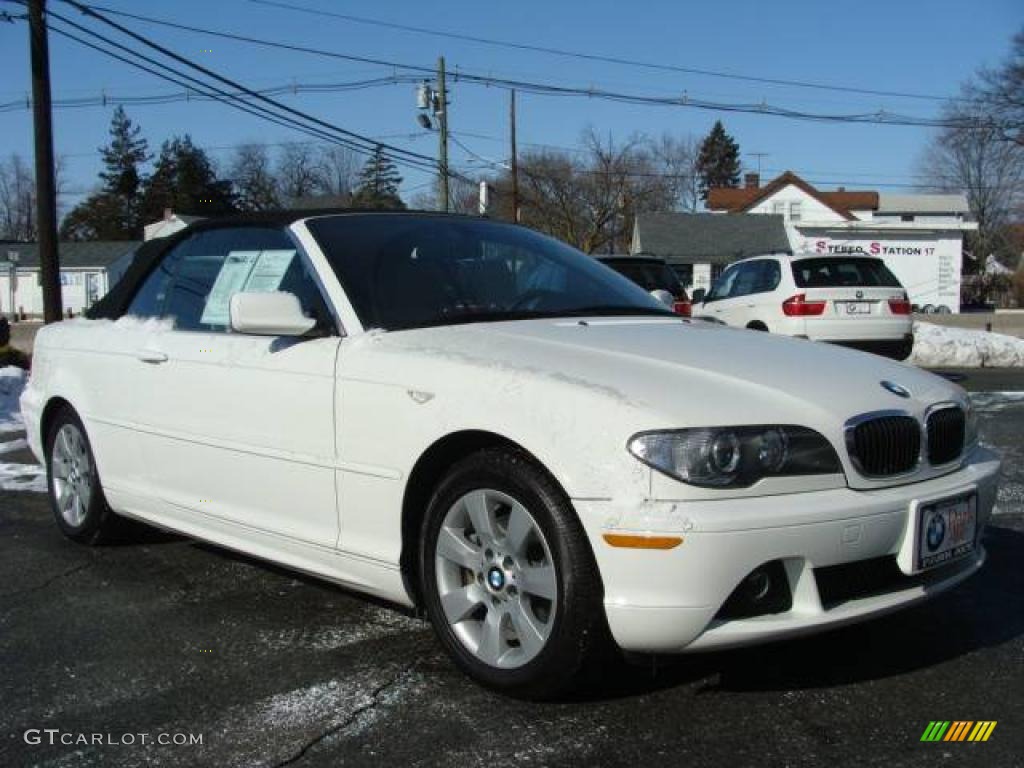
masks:
[[[535,374],[607,393],[669,423],[841,424],[868,411],[921,414],[962,395],[944,379],[877,355],[702,322],[538,319],[386,334],[385,346]],[[893,382],[910,393],[883,387]],[[801,421],[797,421],[804,417]],[[753,421],[752,421],[753,420]],[[776,422],[778,423],[778,422]]]

